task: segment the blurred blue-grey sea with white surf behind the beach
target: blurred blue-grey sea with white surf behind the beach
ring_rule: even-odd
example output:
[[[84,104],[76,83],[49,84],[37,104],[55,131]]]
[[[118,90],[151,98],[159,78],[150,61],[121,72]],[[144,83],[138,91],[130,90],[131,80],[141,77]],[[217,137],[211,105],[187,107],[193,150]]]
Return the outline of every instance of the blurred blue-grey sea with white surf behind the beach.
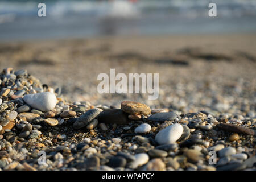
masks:
[[[38,17],[38,3],[46,17]],[[210,2],[217,17],[208,16]],[[256,1],[0,1],[0,41],[102,35],[256,32]]]

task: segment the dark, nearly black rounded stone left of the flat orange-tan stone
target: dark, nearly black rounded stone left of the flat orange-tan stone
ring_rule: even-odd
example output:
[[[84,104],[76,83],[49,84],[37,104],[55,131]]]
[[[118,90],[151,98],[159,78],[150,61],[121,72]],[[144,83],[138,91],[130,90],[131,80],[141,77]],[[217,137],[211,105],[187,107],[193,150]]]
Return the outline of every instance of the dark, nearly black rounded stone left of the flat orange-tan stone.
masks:
[[[128,114],[121,109],[106,109],[98,115],[98,121],[106,124],[126,125],[129,123]]]

